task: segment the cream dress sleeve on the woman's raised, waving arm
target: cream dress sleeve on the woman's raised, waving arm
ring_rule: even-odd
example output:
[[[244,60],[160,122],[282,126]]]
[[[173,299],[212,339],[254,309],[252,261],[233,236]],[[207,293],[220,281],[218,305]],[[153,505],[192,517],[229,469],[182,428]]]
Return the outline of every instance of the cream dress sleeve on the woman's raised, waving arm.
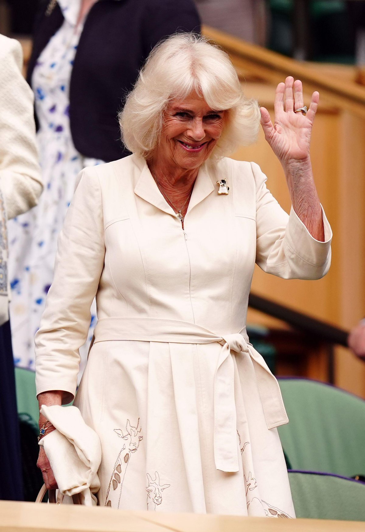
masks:
[[[331,263],[332,231],[322,207],[325,242],[312,237],[293,207],[288,215],[266,187],[267,177],[251,163],[256,183],[256,263],[284,279],[320,279]]]

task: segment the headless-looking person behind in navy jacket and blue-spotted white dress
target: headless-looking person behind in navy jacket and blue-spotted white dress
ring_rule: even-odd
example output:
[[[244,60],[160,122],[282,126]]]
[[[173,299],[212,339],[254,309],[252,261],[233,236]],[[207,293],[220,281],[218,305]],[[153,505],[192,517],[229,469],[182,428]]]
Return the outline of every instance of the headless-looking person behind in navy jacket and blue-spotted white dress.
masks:
[[[75,178],[84,167],[129,154],[117,119],[121,97],[154,45],[181,30],[200,32],[193,0],[51,0],[40,8],[27,79],[45,190],[38,207],[9,226],[17,365],[34,369],[34,335]],[[88,341],[95,321],[94,303]],[[84,359],[87,350],[88,342]]]

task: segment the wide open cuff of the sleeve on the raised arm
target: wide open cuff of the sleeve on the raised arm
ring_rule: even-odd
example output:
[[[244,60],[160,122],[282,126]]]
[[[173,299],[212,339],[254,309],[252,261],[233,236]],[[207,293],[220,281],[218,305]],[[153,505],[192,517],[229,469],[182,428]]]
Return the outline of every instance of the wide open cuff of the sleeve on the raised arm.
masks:
[[[286,228],[287,245],[300,259],[312,266],[322,267],[330,259],[332,230],[321,205],[323,228],[325,230],[325,242],[313,238],[304,223],[293,209],[290,211],[289,221]]]

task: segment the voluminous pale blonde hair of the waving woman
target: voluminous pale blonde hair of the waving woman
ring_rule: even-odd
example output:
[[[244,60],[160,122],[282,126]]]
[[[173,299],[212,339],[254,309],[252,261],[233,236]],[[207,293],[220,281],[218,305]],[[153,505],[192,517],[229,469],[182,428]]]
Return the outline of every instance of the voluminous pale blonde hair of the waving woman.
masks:
[[[164,111],[173,99],[195,91],[215,111],[226,110],[222,134],[211,157],[230,155],[258,135],[258,103],[246,99],[229,56],[195,34],[178,34],[152,50],[119,114],[123,143],[148,159],[159,143]]]

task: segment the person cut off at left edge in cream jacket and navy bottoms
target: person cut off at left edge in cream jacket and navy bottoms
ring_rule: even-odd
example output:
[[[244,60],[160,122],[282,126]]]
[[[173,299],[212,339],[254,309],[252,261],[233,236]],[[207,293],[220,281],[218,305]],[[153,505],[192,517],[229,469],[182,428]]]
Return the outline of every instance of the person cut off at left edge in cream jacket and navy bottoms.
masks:
[[[18,41],[0,35],[0,499],[21,501],[22,476],[9,322],[7,219],[34,207],[42,193],[33,94]]]

